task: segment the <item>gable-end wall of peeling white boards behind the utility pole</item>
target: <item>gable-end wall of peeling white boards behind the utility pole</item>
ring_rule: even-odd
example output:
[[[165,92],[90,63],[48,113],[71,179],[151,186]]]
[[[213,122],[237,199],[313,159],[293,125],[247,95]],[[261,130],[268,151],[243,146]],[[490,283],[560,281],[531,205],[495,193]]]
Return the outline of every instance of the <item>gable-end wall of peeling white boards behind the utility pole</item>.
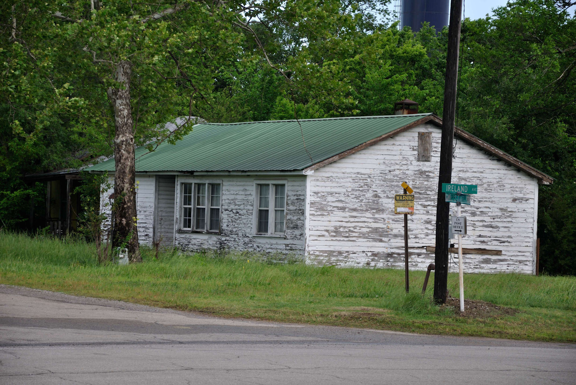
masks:
[[[419,131],[432,133],[430,162],[418,161]],[[307,261],[403,267],[404,218],[394,214],[393,202],[406,181],[415,194],[415,214],[408,216],[410,267],[426,269],[434,262],[426,246],[435,243],[440,139],[440,129],[421,124],[308,175]],[[479,192],[471,206],[463,205],[468,217],[463,247],[502,251],[464,255],[464,270],[532,273],[535,179],[463,141],[454,154],[452,181],[478,184]],[[450,270],[457,271],[452,259]]]

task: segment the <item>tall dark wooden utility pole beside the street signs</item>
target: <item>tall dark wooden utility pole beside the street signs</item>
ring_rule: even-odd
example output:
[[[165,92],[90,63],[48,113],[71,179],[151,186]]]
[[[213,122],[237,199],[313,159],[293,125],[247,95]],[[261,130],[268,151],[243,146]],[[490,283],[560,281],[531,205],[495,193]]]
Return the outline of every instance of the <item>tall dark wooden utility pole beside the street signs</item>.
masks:
[[[452,146],[456,120],[456,86],[458,80],[458,54],[460,51],[460,24],[462,0],[450,1],[448,27],[448,57],[444,82],[444,110],[442,111],[442,141],[440,144],[440,172],[438,176],[438,205],[436,209],[436,252],[434,258],[434,300],[446,303],[448,286],[448,216],[450,203],[444,202],[442,183],[452,182]]]

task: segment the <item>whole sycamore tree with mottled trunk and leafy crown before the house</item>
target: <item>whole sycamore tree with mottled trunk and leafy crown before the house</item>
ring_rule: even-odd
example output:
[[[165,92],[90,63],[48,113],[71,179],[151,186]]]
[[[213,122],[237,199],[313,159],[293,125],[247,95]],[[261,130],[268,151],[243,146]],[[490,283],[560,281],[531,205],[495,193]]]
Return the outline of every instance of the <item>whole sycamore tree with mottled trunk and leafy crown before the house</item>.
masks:
[[[30,136],[49,131],[50,124],[43,122],[51,116],[64,115],[67,127],[80,127],[74,131],[77,137],[93,142],[87,147],[101,142],[113,147],[112,247],[127,247],[131,261],[140,261],[135,146],[154,138],[177,141],[194,122],[173,133],[165,132],[164,123],[195,115],[209,105],[215,74],[251,63],[262,63],[288,84],[316,86],[319,99],[353,103],[344,95],[349,88],[346,81],[338,80],[329,66],[322,66],[323,58],[313,58],[317,52],[310,48],[315,41],[328,42],[335,34],[373,23],[362,13],[386,2],[4,3],[0,13],[6,41],[0,54],[3,74],[12,87],[5,90],[5,96],[15,110],[35,111],[20,120],[13,114],[8,124],[13,132]],[[275,49],[274,41],[263,42],[259,36],[288,36],[287,31],[297,30],[305,31],[300,35],[306,38],[293,42],[290,58],[271,59],[267,51]]]

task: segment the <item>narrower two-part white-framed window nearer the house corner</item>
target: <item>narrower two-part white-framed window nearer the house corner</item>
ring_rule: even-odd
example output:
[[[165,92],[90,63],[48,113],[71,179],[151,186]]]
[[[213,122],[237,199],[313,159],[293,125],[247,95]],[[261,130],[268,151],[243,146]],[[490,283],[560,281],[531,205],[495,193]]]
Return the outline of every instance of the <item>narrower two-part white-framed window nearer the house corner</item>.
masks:
[[[256,184],[256,234],[281,235],[286,231],[286,183]]]

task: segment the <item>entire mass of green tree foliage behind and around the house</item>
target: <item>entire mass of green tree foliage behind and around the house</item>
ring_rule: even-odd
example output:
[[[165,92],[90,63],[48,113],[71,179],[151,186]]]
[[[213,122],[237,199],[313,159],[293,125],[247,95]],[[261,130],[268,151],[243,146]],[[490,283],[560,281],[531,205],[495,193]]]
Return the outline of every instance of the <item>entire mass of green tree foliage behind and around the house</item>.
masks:
[[[184,1],[145,23],[174,2],[110,0],[94,10],[85,0],[2,3],[4,226],[24,223],[26,205],[40,194],[22,175],[111,153],[107,89],[119,61],[132,65],[137,144],[175,142],[191,124],[169,134],[163,123],[185,115],[209,122],[385,115],[404,98],[441,115],[448,31],[388,28],[386,3],[266,0],[240,12],[240,1],[217,9]],[[517,0],[494,17],[465,20],[457,104],[459,126],[556,179],[539,192],[541,266],[550,274],[576,274],[576,21],[567,4]]]

